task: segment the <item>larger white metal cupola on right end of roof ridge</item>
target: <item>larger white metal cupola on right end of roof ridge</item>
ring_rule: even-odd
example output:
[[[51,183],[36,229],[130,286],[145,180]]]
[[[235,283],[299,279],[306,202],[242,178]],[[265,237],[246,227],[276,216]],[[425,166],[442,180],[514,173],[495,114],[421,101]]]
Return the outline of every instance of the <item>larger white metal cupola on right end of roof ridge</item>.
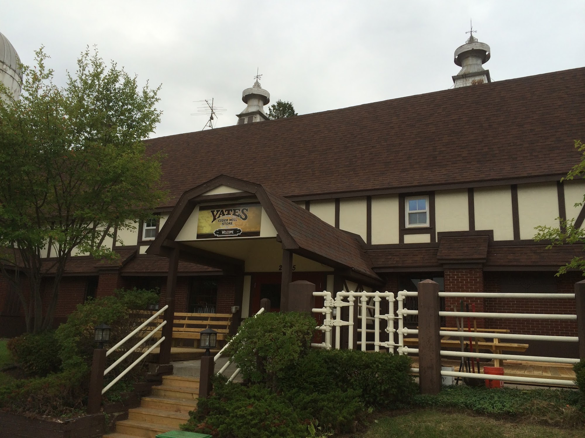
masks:
[[[469,31],[469,39],[455,50],[454,61],[461,70],[453,76],[454,88],[491,82],[490,71],[481,67],[490,60],[490,46],[477,41],[477,38],[473,36],[474,32],[476,31],[472,28]]]

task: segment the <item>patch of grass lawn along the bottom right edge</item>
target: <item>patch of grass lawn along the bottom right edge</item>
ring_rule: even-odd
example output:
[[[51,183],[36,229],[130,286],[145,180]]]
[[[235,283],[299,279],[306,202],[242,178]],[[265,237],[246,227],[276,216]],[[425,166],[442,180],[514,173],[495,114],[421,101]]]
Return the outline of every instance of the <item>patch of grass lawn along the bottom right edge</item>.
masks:
[[[585,437],[585,429],[559,429],[476,416],[470,412],[419,409],[404,415],[386,416],[372,423],[360,438],[573,438]]]

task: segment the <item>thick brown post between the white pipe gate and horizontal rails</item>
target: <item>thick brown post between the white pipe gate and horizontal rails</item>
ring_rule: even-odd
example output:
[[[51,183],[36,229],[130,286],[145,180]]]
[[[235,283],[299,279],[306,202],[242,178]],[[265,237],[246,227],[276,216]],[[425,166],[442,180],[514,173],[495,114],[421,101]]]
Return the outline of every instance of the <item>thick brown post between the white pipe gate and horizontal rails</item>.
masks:
[[[441,318],[439,284],[418,283],[418,376],[422,394],[441,391]]]

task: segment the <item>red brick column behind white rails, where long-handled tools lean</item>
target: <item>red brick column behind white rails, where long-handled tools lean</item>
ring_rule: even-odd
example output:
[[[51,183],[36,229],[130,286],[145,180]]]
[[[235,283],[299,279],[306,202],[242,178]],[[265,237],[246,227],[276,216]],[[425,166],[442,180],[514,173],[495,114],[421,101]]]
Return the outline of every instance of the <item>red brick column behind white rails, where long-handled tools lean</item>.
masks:
[[[483,292],[483,269],[480,267],[464,268],[446,268],[445,272],[445,292]],[[460,311],[460,301],[462,298],[445,298],[445,310],[453,311],[453,305],[456,310]],[[484,298],[463,298],[465,303],[469,303],[469,311],[472,311],[472,303],[475,304],[476,312],[483,312],[485,308]],[[464,308],[463,311],[466,311]],[[484,318],[476,318],[477,328],[484,328],[486,323]],[[467,328],[467,319],[464,320]],[[473,322],[472,322],[473,324]],[[456,327],[455,318],[447,318],[448,327]],[[473,329],[473,326],[472,326]]]

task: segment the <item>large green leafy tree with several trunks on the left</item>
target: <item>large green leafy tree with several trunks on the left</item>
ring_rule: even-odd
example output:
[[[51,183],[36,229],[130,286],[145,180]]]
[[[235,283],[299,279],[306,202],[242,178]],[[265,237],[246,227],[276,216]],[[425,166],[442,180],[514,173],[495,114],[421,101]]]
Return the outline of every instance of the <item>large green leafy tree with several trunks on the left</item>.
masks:
[[[47,58],[40,48],[22,66],[19,100],[0,99],[0,264],[32,332],[52,325],[71,256],[116,258],[115,227],[133,228],[166,196],[161,155],[142,142],[160,121],[160,86],[140,87],[87,48],[59,87]]]

